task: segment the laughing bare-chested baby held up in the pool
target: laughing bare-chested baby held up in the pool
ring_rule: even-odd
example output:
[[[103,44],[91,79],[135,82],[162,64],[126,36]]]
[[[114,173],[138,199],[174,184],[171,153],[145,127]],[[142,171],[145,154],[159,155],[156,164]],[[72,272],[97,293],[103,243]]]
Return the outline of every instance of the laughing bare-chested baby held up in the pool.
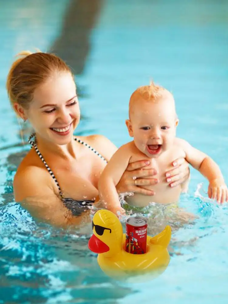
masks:
[[[125,198],[130,206],[144,207],[150,202],[170,204],[178,202],[186,184],[170,187],[166,172],[172,161],[184,157],[189,164],[209,181],[209,198],[223,203],[228,200],[228,189],[218,165],[206,154],[176,138],[178,118],[173,95],[161,86],[151,83],[137,88],[130,97],[129,119],[126,120],[133,141],[124,144],[112,156],[98,183],[99,197],[114,213],[124,212],[116,191],[122,174],[129,163],[148,159],[157,170],[158,183],[148,187],[154,195],[134,194]],[[137,185],[137,179],[135,179]]]

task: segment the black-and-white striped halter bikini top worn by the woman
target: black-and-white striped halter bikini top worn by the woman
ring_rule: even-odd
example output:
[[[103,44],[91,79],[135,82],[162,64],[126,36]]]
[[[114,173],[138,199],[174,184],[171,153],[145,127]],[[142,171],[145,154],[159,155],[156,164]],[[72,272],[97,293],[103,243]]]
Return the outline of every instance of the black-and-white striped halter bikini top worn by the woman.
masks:
[[[88,147],[90,150],[92,150],[95,154],[97,154],[103,161],[106,161],[106,159],[100,154],[98,153],[95,149],[93,149],[91,146],[89,146],[87,143],[85,143],[84,141],[78,139],[78,138],[74,138],[74,140],[76,140],[78,143],[81,143],[82,145],[85,145],[86,147]],[[94,200],[74,200],[74,199],[70,199],[70,198],[65,198],[63,195],[63,192],[61,191],[60,185],[57,181],[57,178],[55,177],[53,171],[50,169],[50,167],[48,166],[48,164],[46,163],[46,161],[44,160],[42,154],[40,153],[39,149],[37,148],[36,145],[36,134],[33,133],[29,136],[28,139],[29,144],[34,147],[36,153],[38,154],[38,156],[40,157],[41,161],[43,162],[43,164],[45,165],[45,167],[47,168],[47,171],[50,173],[51,177],[54,179],[58,189],[59,189],[59,195],[61,198],[61,201],[64,203],[64,206],[66,208],[68,208],[69,210],[71,210],[72,215],[74,216],[78,216],[80,215],[83,211],[85,211],[86,208],[88,208],[89,206],[92,205],[92,203],[94,202]]]

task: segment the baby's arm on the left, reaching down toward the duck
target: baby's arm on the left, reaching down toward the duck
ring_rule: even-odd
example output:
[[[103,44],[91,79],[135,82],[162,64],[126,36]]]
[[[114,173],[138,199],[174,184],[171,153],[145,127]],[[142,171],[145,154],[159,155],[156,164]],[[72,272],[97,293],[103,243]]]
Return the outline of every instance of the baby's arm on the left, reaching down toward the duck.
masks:
[[[116,185],[120,181],[130,161],[129,144],[120,147],[111,157],[98,181],[100,200],[107,204],[107,209],[116,213],[123,211],[120,206]]]

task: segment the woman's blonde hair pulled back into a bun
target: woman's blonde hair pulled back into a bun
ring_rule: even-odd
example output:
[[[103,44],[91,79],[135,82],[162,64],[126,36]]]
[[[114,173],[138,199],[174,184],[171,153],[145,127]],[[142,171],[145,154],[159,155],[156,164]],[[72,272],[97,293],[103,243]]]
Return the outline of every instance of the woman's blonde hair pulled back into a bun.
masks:
[[[12,64],[6,82],[12,107],[17,102],[24,109],[28,109],[34,90],[52,73],[69,72],[72,74],[67,64],[54,54],[22,51],[17,56],[20,58]]]

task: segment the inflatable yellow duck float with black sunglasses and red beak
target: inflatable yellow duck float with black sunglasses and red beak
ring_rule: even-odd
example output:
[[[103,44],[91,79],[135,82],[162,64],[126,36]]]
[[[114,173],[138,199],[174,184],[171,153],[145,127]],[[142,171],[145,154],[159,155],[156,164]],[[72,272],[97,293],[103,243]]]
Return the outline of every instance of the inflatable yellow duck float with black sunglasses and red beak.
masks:
[[[115,278],[150,274],[153,277],[163,272],[170,261],[168,244],[171,228],[166,228],[155,237],[147,236],[147,252],[131,254],[125,251],[125,233],[118,217],[109,210],[99,210],[92,221],[93,235],[88,248],[98,253],[102,271]]]

